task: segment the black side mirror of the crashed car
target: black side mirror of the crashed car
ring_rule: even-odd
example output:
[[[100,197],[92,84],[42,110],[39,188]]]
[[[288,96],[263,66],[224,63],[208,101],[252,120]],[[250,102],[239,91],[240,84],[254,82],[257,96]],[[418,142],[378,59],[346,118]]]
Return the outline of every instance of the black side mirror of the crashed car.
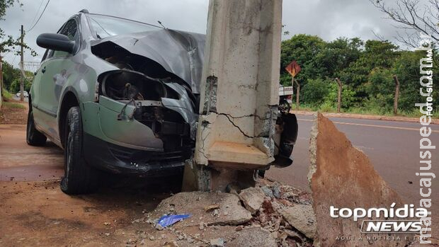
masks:
[[[37,45],[42,48],[72,53],[75,43],[66,35],[59,33],[42,33],[38,35]]]

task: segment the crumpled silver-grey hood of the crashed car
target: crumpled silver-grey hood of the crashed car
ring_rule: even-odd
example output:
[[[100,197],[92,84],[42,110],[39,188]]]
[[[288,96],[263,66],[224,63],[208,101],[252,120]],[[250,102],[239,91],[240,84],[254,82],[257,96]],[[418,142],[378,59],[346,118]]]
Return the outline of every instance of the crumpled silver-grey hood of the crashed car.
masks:
[[[113,42],[128,52],[152,59],[186,81],[193,93],[200,93],[205,35],[163,29],[111,36],[93,41],[91,45],[103,42]]]

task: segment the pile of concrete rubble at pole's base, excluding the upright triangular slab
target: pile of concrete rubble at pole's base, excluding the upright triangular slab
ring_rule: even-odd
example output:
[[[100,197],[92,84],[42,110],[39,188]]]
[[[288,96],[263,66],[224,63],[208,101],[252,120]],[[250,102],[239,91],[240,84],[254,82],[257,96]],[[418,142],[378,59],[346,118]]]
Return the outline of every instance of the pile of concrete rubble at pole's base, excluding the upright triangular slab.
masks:
[[[258,179],[256,188],[233,193],[186,192],[166,198],[153,212],[132,224],[137,228],[156,227],[164,214],[191,216],[156,229],[152,236],[143,236],[148,241],[139,239],[135,243],[140,243],[139,246],[312,246],[309,230],[290,221],[285,214],[295,207],[309,209],[312,205],[309,193],[265,179]],[[312,210],[303,215],[306,222],[314,221]]]

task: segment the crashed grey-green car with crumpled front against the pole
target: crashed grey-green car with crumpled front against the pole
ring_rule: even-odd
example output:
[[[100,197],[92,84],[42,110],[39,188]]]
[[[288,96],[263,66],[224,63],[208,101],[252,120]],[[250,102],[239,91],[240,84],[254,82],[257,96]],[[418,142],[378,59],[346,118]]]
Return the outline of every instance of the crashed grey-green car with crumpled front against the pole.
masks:
[[[89,11],[43,33],[26,139],[64,149],[64,193],[90,193],[98,171],[181,173],[195,147],[205,35]]]

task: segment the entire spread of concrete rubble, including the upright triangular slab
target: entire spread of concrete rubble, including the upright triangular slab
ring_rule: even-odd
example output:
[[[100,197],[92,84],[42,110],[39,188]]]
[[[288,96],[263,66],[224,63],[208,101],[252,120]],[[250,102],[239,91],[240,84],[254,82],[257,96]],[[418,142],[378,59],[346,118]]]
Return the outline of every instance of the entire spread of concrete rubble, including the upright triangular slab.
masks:
[[[333,219],[337,207],[387,207],[401,204],[397,193],[377,175],[367,156],[353,147],[331,121],[318,115],[312,130],[310,193],[258,178],[254,188],[230,193],[185,192],[161,201],[154,212],[135,219],[137,229],[154,228],[164,214],[188,219],[153,233],[137,233],[127,246],[406,246],[409,240],[367,241],[361,221]],[[369,234],[370,236],[376,236]],[[337,237],[349,236],[353,241]],[[385,235],[392,237],[392,234]],[[359,237],[362,237],[363,240]],[[145,241],[147,239],[148,241]],[[409,239],[413,239],[411,236]],[[411,246],[417,246],[416,243]]]

